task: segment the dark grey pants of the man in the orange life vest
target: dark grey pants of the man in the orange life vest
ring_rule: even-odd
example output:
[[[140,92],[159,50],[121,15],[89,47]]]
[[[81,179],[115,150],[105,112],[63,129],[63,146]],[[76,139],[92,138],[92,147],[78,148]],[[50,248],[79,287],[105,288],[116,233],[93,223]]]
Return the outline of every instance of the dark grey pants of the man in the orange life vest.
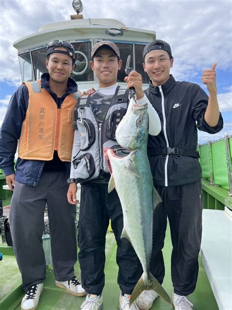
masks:
[[[32,284],[43,283],[46,278],[42,243],[46,203],[55,279],[67,281],[74,276],[73,266],[77,260],[76,207],[68,203],[67,191],[66,171],[43,172],[35,189],[15,182],[10,229],[25,291]]]

